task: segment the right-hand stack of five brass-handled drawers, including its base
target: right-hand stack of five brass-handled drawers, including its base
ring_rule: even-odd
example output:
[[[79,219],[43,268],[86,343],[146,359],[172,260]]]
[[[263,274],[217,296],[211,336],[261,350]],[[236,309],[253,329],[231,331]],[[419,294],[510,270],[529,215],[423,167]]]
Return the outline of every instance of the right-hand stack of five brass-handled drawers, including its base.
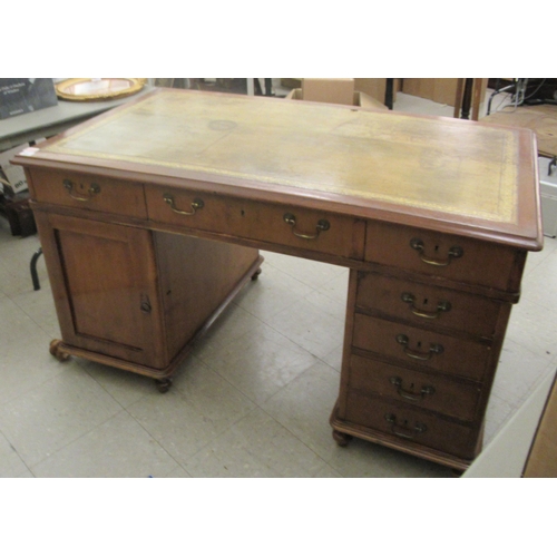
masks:
[[[525,254],[368,223],[369,270],[351,270],[333,437],[466,469],[483,418]]]

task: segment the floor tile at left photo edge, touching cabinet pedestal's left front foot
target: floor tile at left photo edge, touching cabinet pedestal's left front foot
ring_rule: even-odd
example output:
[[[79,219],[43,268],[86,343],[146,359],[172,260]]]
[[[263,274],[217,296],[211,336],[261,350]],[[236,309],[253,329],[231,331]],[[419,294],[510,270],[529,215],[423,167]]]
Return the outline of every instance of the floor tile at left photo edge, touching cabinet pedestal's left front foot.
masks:
[[[28,467],[46,459],[121,410],[72,362],[63,373],[0,407],[0,429]]]

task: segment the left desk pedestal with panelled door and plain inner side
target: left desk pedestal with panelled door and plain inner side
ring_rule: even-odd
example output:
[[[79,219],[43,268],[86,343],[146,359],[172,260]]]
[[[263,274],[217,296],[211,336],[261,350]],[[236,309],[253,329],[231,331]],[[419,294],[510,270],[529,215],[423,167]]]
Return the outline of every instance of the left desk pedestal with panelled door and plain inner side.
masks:
[[[192,343],[256,277],[257,250],[37,212],[62,341],[50,351],[152,377],[165,391]]]

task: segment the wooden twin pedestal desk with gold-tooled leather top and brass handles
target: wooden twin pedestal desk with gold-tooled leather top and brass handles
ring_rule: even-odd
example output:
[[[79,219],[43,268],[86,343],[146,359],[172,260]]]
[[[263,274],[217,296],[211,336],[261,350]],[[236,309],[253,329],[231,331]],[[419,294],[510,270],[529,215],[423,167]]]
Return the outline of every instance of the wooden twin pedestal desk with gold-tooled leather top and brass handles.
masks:
[[[481,449],[528,251],[534,135],[355,107],[157,89],[18,155],[61,340],[169,385],[258,248],[350,268],[339,444],[455,469]]]

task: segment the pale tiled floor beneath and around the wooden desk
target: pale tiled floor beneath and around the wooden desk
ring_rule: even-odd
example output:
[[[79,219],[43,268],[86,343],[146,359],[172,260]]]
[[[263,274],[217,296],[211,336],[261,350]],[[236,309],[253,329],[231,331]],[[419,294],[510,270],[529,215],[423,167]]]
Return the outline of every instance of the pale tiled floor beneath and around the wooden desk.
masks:
[[[397,110],[450,116],[404,98]],[[36,236],[0,218],[0,477],[451,477],[353,440],[329,414],[339,390],[348,271],[264,253],[251,283],[160,394],[152,380],[48,352],[59,336]],[[557,241],[530,254],[487,414],[486,442],[557,367]]]

